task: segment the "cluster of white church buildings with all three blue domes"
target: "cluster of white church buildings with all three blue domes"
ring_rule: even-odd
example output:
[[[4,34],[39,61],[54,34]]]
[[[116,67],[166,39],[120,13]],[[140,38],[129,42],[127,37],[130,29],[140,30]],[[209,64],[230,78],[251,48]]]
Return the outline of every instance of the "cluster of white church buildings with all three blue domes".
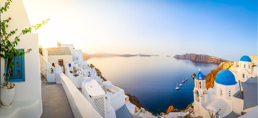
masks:
[[[208,90],[206,79],[199,69],[194,78],[194,117],[210,118],[210,113],[218,111],[216,118],[248,118],[251,113],[257,116],[257,67],[252,67],[248,58],[243,56],[239,67],[234,67],[233,71],[223,69],[218,72],[214,87]],[[241,73],[249,79],[239,84],[236,78]]]

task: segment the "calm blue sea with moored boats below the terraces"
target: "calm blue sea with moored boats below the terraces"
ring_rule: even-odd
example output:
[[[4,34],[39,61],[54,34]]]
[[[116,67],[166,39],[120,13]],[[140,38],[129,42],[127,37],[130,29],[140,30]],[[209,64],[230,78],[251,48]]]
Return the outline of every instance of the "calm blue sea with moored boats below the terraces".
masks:
[[[219,66],[166,56],[91,58],[88,63],[99,68],[103,77],[113,85],[135,95],[154,114],[165,113],[171,105],[179,110],[185,109],[193,102],[191,75],[199,68],[207,75]],[[188,81],[176,90],[177,82],[185,79],[185,75]]]

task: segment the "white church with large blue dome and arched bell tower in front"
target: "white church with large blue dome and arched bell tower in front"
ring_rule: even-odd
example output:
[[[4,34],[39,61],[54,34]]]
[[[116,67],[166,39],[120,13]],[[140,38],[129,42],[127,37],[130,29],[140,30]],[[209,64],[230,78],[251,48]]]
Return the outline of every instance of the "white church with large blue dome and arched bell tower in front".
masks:
[[[253,108],[243,109],[244,101],[239,98],[239,84],[236,82],[233,73],[229,70],[223,69],[218,72],[214,81],[214,88],[206,89],[205,78],[200,71],[194,78],[194,84],[195,117],[202,116],[203,118],[210,118],[209,112],[215,114],[218,111],[219,118],[239,117],[242,112],[248,112]],[[257,89],[254,91],[257,92]],[[199,97],[197,97],[197,93]]]

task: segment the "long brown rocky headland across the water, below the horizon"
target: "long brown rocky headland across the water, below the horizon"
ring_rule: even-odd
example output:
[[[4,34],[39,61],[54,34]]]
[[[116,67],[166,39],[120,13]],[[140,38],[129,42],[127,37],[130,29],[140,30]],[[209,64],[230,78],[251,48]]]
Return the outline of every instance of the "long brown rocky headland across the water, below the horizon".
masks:
[[[220,59],[220,58],[216,58],[213,56],[208,56],[208,55],[197,55],[197,54],[184,54],[184,55],[176,55],[174,56],[175,59],[188,59],[191,61],[195,61],[195,62],[204,62],[204,63],[213,63],[213,64],[220,64],[221,62],[227,62],[229,60],[225,60],[225,59]]]

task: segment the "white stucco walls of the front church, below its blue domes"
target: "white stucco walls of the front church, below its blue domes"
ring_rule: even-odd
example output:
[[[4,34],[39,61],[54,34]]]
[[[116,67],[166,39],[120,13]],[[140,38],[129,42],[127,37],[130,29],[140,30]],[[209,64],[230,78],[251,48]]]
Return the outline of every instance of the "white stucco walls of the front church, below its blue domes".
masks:
[[[221,111],[219,112],[219,115],[221,118],[229,115],[234,110],[232,108],[232,95],[237,90],[237,87],[238,83],[235,85],[225,86],[218,84],[216,83],[216,81],[214,81],[214,88],[209,88],[207,94],[202,95],[202,97],[200,95],[198,98],[194,98],[194,116],[202,116],[203,118],[209,118],[209,111],[213,111],[213,113],[216,113],[220,109]],[[198,90],[199,94],[200,92],[201,94],[205,93],[205,90],[203,89],[195,88],[194,91],[195,90]],[[194,95],[194,97],[196,97],[196,95]],[[204,100],[201,100],[201,98]],[[235,104],[241,104],[241,102]]]

